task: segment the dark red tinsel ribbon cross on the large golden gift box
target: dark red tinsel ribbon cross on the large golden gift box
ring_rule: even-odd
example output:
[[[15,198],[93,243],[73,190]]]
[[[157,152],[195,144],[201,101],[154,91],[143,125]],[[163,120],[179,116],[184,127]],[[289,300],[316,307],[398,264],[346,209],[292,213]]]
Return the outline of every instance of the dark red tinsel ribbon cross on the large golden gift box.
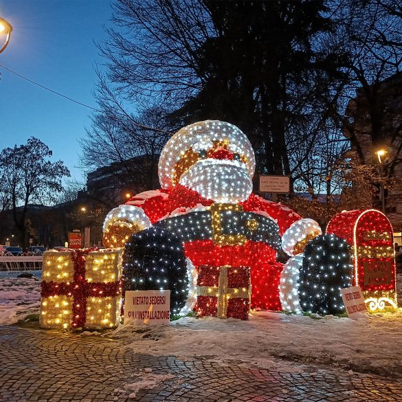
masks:
[[[67,296],[71,302],[71,326],[82,328],[87,326],[88,298],[115,298],[122,294],[121,280],[114,282],[89,282],[86,278],[86,257],[93,249],[69,250],[74,264],[72,282],[55,282],[53,280],[41,283],[42,299],[54,296]],[[116,250],[118,258],[121,258],[122,250]],[[118,278],[120,279],[120,278]],[[70,304],[70,303],[69,303]]]

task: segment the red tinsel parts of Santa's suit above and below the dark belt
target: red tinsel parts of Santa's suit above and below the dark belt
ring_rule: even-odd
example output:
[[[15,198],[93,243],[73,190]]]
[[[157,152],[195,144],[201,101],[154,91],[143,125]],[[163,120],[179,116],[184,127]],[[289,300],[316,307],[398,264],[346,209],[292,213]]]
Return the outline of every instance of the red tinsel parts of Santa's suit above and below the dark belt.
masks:
[[[155,223],[170,214],[190,211],[197,206],[209,206],[214,201],[201,197],[197,192],[178,185],[169,189],[161,189],[152,192],[137,194],[127,201],[128,205],[142,208]],[[268,216],[278,224],[279,234],[282,234],[299,219],[290,208],[267,201],[255,194],[240,203],[245,212],[256,212]],[[266,243],[247,241],[241,246],[221,246],[212,240],[192,241],[184,245],[186,256],[190,258],[194,266],[221,267],[250,267],[252,279],[251,307],[260,309],[280,309],[278,284],[282,264],[276,263],[276,251]]]

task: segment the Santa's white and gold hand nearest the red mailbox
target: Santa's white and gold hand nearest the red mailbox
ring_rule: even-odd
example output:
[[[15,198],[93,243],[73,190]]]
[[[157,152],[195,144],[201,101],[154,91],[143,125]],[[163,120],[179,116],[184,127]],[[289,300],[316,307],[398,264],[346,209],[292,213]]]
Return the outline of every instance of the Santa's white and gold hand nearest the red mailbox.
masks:
[[[289,256],[304,252],[307,243],[322,234],[321,227],[313,219],[300,219],[291,224],[282,236],[282,249]]]

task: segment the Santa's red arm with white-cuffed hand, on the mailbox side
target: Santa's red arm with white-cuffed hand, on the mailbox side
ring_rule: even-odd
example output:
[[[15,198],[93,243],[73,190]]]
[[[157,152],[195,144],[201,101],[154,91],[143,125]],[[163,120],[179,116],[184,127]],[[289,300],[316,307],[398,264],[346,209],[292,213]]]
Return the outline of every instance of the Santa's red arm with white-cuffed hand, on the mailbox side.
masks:
[[[245,211],[256,212],[276,221],[282,236],[282,249],[289,256],[304,252],[304,247],[312,238],[322,234],[320,225],[313,219],[302,219],[299,214],[285,205],[267,201],[252,194],[245,203]]]

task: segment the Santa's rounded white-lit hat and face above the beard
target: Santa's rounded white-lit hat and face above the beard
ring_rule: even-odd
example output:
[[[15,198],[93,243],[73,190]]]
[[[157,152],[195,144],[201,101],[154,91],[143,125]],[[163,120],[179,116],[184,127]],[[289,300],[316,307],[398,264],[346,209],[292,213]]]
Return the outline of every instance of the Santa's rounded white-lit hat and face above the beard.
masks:
[[[176,186],[190,166],[207,158],[238,161],[250,178],[254,175],[254,151],[245,134],[233,124],[205,120],[183,127],[164,146],[158,165],[161,187]]]

